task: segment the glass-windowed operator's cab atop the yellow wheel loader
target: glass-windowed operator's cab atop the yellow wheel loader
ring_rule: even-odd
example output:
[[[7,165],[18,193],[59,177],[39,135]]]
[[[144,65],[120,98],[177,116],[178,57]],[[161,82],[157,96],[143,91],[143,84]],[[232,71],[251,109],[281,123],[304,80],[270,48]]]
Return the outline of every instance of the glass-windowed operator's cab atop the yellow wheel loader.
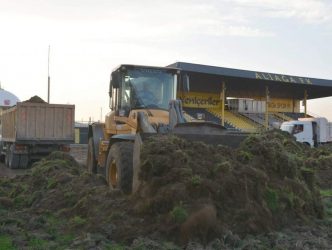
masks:
[[[118,116],[134,109],[168,110],[176,99],[179,70],[163,67],[121,65],[113,71],[110,83],[110,108]]]

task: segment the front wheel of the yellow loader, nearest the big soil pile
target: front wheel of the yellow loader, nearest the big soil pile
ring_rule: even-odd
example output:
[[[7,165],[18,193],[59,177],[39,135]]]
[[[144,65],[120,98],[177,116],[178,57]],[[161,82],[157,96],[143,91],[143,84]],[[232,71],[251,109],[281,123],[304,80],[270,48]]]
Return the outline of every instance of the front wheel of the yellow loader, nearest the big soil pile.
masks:
[[[108,185],[130,194],[133,182],[133,143],[114,143],[108,152],[105,167]]]

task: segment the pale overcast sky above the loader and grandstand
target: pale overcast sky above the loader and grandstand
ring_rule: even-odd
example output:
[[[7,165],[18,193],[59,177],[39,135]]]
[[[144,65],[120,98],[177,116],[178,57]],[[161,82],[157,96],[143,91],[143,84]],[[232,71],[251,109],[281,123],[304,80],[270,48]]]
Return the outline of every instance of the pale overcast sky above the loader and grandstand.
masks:
[[[119,64],[176,61],[332,79],[331,0],[0,0],[0,81],[21,100],[108,111]],[[332,120],[332,98],[309,112]],[[103,119],[103,118],[102,118]]]

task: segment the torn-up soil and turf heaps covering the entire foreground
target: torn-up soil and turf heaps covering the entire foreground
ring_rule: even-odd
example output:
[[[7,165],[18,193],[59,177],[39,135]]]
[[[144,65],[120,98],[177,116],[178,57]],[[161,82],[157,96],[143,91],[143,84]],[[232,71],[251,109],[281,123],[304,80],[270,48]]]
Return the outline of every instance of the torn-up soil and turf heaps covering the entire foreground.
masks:
[[[141,156],[132,195],[63,153],[0,177],[0,249],[331,249],[330,147],[280,131],[236,150],[161,136]]]

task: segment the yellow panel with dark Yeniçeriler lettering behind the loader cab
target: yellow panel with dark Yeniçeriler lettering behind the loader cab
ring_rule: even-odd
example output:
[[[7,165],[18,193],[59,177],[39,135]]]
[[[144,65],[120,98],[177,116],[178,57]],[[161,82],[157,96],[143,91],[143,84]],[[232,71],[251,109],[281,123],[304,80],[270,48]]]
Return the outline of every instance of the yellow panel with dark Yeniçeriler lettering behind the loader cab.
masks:
[[[178,98],[182,106],[187,108],[220,108],[221,100],[219,94],[214,93],[179,93]]]

